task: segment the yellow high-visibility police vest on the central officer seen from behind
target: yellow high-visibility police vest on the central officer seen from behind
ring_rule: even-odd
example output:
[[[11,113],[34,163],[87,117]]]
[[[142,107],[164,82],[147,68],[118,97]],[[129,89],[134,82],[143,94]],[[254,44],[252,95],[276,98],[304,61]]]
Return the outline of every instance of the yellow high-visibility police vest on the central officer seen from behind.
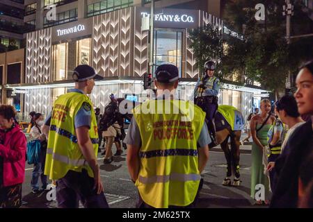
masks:
[[[152,207],[193,203],[205,112],[188,101],[150,100],[134,108],[134,118],[142,144],[136,186],[143,201]]]

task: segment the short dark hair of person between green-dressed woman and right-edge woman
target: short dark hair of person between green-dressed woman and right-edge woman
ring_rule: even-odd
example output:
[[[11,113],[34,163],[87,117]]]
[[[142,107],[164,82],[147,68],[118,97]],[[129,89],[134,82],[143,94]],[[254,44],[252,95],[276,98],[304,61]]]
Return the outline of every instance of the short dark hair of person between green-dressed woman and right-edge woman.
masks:
[[[284,95],[282,98],[275,103],[275,107],[278,111],[284,110],[287,112],[289,117],[300,117],[300,113],[298,112],[298,106],[296,99],[291,95]]]

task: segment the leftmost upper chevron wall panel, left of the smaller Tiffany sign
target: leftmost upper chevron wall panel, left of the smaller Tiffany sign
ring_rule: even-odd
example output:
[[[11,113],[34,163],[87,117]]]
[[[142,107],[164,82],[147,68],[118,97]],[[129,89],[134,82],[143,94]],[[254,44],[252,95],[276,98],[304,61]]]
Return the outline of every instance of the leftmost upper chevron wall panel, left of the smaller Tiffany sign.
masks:
[[[51,80],[51,28],[26,35],[26,83]]]

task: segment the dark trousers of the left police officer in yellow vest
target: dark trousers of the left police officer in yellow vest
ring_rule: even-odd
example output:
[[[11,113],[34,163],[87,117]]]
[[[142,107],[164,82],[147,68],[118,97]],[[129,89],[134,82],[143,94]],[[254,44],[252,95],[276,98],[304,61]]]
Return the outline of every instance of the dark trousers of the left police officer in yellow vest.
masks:
[[[56,181],[58,208],[78,208],[79,200],[85,208],[109,208],[104,193],[97,194],[95,179],[85,169],[81,173],[68,171],[64,178]]]

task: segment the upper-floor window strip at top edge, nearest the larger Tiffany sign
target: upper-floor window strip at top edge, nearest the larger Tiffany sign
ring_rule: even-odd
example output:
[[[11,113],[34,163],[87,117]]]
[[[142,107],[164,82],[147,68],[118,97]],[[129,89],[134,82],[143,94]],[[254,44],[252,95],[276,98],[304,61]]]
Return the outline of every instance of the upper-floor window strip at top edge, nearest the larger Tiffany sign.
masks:
[[[133,5],[133,0],[106,0],[88,5],[87,17],[127,8]]]

